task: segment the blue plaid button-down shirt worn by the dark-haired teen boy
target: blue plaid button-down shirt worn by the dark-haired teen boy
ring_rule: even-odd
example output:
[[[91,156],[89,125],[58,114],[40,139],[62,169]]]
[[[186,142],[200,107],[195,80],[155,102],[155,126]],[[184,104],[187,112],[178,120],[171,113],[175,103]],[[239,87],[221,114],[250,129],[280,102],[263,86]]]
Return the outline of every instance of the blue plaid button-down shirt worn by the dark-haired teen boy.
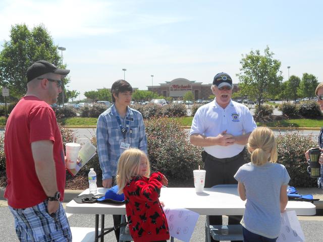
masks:
[[[124,139],[117,120],[119,116],[115,105],[105,110],[97,119],[96,145],[99,155],[102,179],[112,178],[117,173],[117,164],[124,149],[120,148],[121,142],[130,144],[131,148],[138,148],[147,153],[147,139],[145,125],[140,112],[127,107],[126,117],[129,121],[128,132]],[[119,116],[120,117],[120,116]],[[121,124],[126,127],[126,118],[120,117]]]

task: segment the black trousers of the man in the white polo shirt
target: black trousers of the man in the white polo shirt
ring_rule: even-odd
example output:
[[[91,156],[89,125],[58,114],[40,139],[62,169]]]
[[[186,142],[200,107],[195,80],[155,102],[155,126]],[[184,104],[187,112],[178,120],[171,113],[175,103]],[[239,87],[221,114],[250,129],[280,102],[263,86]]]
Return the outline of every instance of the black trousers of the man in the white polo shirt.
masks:
[[[221,184],[238,184],[238,181],[233,176],[239,167],[246,163],[244,152],[245,150],[231,158],[219,159],[203,151],[202,159],[204,161],[204,169],[206,170],[205,188],[211,188]],[[240,224],[241,219],[242,216],[239,215],[229,216],[228,224]],[[209,216],[209,222],[211,225],[221,225],[223,224],[222,216]],[[211,241],[217,240],[211,237]]]

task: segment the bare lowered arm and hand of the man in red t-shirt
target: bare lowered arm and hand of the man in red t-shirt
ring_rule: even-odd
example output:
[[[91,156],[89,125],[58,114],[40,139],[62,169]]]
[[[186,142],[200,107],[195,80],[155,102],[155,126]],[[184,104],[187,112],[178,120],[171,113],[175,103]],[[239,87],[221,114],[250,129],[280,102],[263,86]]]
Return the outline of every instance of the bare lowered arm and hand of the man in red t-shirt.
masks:
[[[51,140],[40,140],[31,143],[32,156],[38,180],[47,195],[55,196],[58,191],[56,167],[53,157],[53,143]],[[55,213],[59,209],[60,201],[48,201],[48,213]]]

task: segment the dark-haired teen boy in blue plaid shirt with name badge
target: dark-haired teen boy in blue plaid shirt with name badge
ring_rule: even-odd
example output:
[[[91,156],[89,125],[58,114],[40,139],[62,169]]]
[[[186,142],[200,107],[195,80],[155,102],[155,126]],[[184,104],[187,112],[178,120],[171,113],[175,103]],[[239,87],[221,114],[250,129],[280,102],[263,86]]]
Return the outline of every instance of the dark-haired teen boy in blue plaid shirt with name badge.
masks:
[[[111,188],[115,182],[117,164],[123,151],[138,148],[147,153],[145,126],[140,112],[129,107],[132,87],[125,80],[114,82],[111,87],[111,108],[105,110],[97,119],[96,143],[102,185]],[[114,215],[114,225],[120,224],[121,216]],[[119,229],[115,231],[119,241]]]

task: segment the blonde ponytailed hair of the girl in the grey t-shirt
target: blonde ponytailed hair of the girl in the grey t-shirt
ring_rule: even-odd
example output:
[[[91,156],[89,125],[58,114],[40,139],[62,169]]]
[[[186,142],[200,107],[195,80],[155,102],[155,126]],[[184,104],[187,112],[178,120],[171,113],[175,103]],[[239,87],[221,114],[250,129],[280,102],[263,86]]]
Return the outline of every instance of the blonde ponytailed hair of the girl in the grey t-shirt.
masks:
[[[277,162],[277,143],[271,129],[259,127],[252,131],[247,148],[251,154],[251,162],[255,165],[263,165],[268,160]]]

